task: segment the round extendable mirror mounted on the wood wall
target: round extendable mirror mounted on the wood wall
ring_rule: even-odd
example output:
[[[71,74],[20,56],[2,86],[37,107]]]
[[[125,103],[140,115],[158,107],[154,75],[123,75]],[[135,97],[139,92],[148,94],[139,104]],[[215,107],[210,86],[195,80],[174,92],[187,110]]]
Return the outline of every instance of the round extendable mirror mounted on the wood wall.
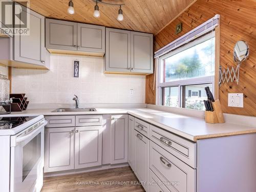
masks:
[[[244,40],[237,41],[234,46],[233,59],[234,62],[240,63],[247,59],[249,55],[249,46]]]

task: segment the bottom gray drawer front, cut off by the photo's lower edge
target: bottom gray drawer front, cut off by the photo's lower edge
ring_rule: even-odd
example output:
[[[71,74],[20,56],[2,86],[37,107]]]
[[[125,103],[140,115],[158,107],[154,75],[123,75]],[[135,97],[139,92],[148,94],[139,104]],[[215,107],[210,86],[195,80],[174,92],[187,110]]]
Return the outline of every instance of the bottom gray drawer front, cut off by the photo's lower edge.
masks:
[[[150,169],[150,185],[149,185],[149,189],[150,192],[172,192],[170,191],[163,182],[160,181],[160,179],[152,172],[152,170]]]

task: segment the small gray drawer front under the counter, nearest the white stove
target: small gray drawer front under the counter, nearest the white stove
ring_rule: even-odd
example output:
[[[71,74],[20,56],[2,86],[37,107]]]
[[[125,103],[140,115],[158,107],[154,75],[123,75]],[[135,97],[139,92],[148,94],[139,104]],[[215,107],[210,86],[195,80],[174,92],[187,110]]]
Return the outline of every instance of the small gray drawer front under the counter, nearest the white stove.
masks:
[[[46,127],[75,126],[75,116],[46,116],[48,121]]]

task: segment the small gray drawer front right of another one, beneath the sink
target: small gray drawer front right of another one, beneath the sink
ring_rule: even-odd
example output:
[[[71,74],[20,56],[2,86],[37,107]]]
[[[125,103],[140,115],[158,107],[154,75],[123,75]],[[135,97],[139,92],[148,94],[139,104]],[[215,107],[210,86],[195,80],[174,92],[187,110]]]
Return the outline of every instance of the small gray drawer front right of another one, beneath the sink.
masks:
[[[102,125],[102,115],[78,115],[76,126]]]

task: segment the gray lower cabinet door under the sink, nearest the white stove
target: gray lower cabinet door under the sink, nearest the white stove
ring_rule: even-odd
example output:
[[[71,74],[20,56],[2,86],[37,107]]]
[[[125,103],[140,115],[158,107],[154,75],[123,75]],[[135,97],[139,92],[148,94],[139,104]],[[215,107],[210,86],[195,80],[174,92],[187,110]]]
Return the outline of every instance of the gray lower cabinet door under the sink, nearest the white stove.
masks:
[[[45,130],[45,173],[74,169],[74,131],[75,127]]]

